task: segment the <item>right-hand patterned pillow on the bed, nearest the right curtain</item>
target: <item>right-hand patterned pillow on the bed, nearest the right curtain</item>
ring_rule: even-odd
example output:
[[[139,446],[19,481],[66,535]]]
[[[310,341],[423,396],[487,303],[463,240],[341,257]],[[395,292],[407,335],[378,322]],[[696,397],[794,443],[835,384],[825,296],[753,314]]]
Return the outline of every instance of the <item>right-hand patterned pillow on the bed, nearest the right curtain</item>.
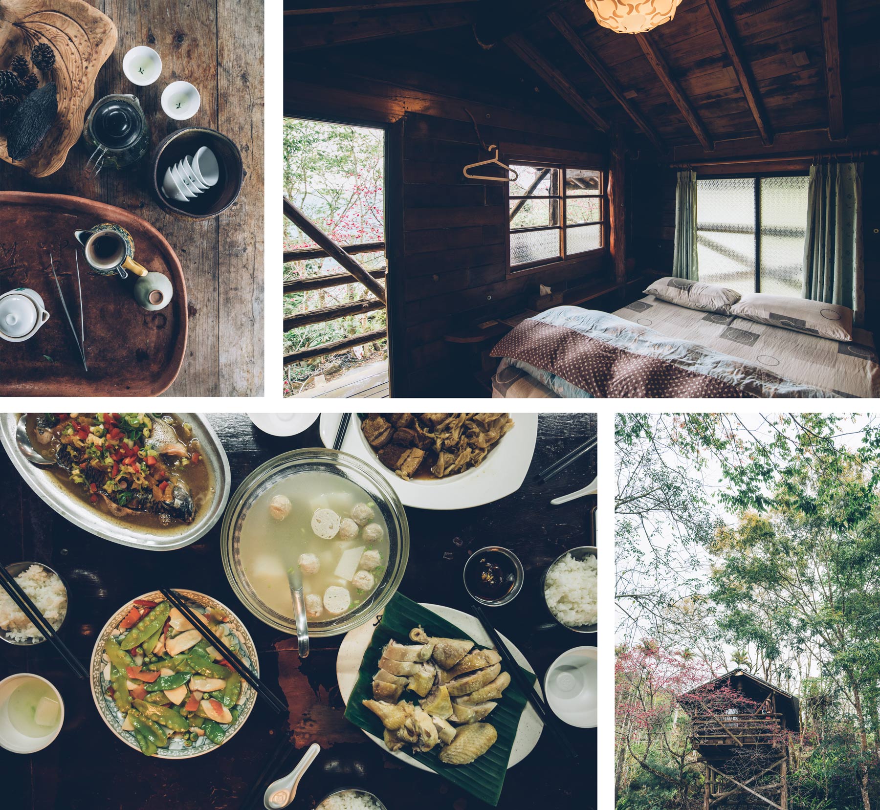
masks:
[[[853,339],[853,310],[836,303],[746,293],[730,308],[730,314],[757,321],[759,324],[806,332],[819,338],[847,342]]]

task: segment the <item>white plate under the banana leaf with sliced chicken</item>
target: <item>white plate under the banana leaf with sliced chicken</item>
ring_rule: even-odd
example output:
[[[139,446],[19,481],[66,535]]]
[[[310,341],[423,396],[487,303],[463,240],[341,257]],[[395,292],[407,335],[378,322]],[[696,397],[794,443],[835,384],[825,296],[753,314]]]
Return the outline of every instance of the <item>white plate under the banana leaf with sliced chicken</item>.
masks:
[[[480,646],[493,646],[492,639],[489,639],[487,632],[483,630],[483,625],[480,624],[480,619],[477,617],[471,616],[469,613],[464,613],[461,610],[456,610],[455,608],[447,608],[444,605],[434,605],[429,602],[420,602],[420,604],[422,605],[422,608],[433,610],[437,616],[444,618],[447,622],[451,622],[451,624],[455,624]],[[377,617],[377,624],[378,618],[379,617]],[[355,630],[348,631],[345,638],[342,639],[339,654],[336,656],[336,682],[339,684],[342,700],[345,701],[346,704],[348,704],[348,698],[351,697],[351,693],[355,690],[357,674],[361,668],[361,661],[363,660],[363,653],[366,653],[367,647],[370,646],[370,640],[373,638],[373,631],[375,629],[376,627],[372,622],[367,622],[366,624],[357,627]],[[501,636],[502,641],[510,650],[510,654],[513,655],[517,664],[533,673],[534,669],[532,669],[528,660],[525,659],[524,654],[519,652],[517,646],[501,633],[498,635]],[[534,688],[540,695],[541,687],[538,681],[535,681]],[[503,699],[503,697],[499,698],[500,701]],[[491,718],[491,715],[489,715],[489,717]],[[513,741],[513,748],[510,749],[510,760],[508,760],[507,763],[509,769],[517,763],[522,762],[525,757],[532,752],[532,748],[538,744],[541,730],[543,728],[544,723],[539,718],[538,712],[534,710],[531,703],[526,703],[523,713],[519,718],[517,737]],[[378,737],[375,737],[368,732],[363,733],[382,748],[382,750],[385,751],[385,754],[396,757],[401,762],[413,765],[414,768],[418,768],[419,770],[427,770],[429,773],[434,772],[427,765],[423,765],[418,760],[414,759],[414,757],[404,754],[403,751],[389,751],[388,748],[385,747],[385,742]]]

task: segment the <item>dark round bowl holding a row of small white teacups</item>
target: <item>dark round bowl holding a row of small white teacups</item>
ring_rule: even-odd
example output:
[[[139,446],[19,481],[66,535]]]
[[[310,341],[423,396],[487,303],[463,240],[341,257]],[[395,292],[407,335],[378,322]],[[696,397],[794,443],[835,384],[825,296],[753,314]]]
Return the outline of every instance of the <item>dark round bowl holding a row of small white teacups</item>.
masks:
[[[220,179],[216,186],[211,186],[194,200],[170,200],[162,191],[165,171],[184,157],[192,157],[202,146],[207,146],[214,152],[220,166]],[[184,219],[211,219],[222,214],[238,200],[244,179],[245,167],[238,147],[226,135],[204,127],[189,127],[172,132],[158,145],[150,164],[150,186],[159,206],[169,214]]]

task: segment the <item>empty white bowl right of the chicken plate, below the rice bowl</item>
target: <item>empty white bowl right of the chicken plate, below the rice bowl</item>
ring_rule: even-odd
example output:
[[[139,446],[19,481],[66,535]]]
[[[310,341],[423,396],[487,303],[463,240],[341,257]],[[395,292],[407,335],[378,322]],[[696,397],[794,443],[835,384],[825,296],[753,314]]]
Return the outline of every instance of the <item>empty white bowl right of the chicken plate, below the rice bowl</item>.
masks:
[[[544,694],[553,713],[578,728],[598,725],[596,647],[573,647],[554,660],[544,676]]]

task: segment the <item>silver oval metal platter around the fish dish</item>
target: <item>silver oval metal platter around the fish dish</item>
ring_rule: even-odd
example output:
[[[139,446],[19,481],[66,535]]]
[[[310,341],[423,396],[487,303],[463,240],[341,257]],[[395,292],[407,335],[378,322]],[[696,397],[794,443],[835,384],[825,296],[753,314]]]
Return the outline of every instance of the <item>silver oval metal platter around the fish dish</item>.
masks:
[[[193,426],[193,435],[202,445],[202,454],[207,459],[211,471],[213,492],[210,500],[199,509],[194,522],[188,526],[181,525],[179,528],[163,529],[160,532],[150,532],[99,512],[85,501],[71,495],[48,468],[36,467],[23,458],[15,443],[15,428],[20,413],[0,413],[0,443],[33,492],[55,509],[55,512],[80,529],[112,543],[129,545],[137,549],[173,551],[194,543],[220,520],[226,501],[229,500],[231,487],[229,459],[226,458],[226,451],[217,438],[214,428],[198,413],[177,415]]]

